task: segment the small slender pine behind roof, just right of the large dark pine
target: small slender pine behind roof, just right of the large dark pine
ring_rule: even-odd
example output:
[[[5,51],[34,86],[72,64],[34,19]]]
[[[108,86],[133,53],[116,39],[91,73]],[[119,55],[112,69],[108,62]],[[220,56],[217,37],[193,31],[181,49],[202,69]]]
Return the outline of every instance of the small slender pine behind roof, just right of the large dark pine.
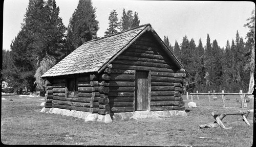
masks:
[[[117,33],[119,23],[116,10],[110,12],[109,21],[109,28],[106,29],[105,36]]]

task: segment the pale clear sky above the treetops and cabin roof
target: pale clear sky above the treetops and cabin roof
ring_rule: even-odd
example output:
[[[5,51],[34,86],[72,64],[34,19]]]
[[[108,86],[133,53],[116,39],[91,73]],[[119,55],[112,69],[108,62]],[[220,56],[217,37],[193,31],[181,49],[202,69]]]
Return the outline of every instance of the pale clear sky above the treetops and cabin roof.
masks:
[[[55,0],[59,7],[59,16],[68,27],[79,0]],[[235,40],[237,31],[246,41],[248,28],[244,27],[247,18],[255,9],[253,2],[230,1],[131,1],[131,0],[92,0],[99,21],[98,37],[103,37],[109,26],[109,14],[114,9],[119,20],[122,10],[137,12],[140,24],[150,23],[162,38],[168,36],[172,46],[175,40],[182,43],[183,37],[194,39],[198,45],[202,39],[206,45],[207,34],[210,41],[217,40],[220,47],[225,47],[227,40]],[[3,49],[9,50],[11,41],[21,30],[24,14],[29,0],[5,0],[3,20]]]

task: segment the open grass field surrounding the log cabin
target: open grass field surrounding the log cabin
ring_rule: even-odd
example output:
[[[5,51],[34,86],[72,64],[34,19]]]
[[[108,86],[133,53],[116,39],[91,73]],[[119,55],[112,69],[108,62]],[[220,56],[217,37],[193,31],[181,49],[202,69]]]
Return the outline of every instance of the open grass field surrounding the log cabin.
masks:
[[[230,96],[228,108],[222,107],[222,100],[211,100],[208,96],[194,97],[198,108],[186,108],[186,117],[120,120],[110,124],[84,122],[71,116],[40,113],[44,97],[19,97],[2,95],[1,141],[4,144],[40,145],[143,145],[143,146],[252,146],[253,114],[247,120],[238,120],[239,115],[226,116],[226,127],[200,129],[199,125],[214,122],[212,111],[238,112],[253,109],[253,101],[247,108],[239,108],[236,102],[240,96]],[[190,102],[185,100],[185,105]],[[190,99],[190,96],[189,96]],[[195,100],[196,99],[196,100]],[[12,100],[12,101],[10,101]],[[209,138],[200,138],[209,137]]]

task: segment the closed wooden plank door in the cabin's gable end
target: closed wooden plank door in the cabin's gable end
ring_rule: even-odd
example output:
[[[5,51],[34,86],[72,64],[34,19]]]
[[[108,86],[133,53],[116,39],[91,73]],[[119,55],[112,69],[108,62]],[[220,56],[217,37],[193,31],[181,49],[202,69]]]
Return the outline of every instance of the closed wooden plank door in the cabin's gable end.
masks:
[[[136,70],[135,75],[136,110],[147,110],[148,101],[148,71]]]

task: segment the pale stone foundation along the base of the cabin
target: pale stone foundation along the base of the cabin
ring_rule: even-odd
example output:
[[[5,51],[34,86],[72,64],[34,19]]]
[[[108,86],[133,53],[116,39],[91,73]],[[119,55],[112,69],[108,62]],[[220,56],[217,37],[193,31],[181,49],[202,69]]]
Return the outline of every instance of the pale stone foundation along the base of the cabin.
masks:
[[[112,114],[92,114],[90,112],[82,112],[76,110],[67,110],[59,108],[42,108],[42,113],[50,114],[60,114],[64,116],[72,116],[84,121],[98,121],[104,123],[110,123],[112,120],[128,120],[128,119],[137,119],[141,120],[144,118],[168,118],[171,116],[187,116],[185,111],[170,110],[170,111],[135,111],[135,112],[125,112],[125,113],[112,113]]]

